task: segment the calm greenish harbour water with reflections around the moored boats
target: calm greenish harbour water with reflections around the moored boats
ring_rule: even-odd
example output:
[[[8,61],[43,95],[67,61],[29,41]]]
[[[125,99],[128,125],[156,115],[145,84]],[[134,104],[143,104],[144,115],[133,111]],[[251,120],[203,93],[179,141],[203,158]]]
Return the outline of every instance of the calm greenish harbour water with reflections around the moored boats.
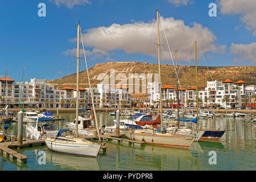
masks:
[[[99,125],[114,125],[115,116],[98,114]],[[75,113],[60,113],[65,121],[55,123],[64,128],[65,122],[75,119]],[[122,117],[121,118],[126,118]],[[226,129],[220,142],[193,142],[190,150],[146,145],[123,146],[106,142],[107,151],[97,158],[84,158],[49,151],[47,146],[19,150],[28,156],[27,164],[10,162],[0,155],[1,170],[256,170],[256,126],[243,120],[250,118],[200,119],[200,128]],[[191,123],[185,123],[191,125]],[[17,133],[18,123],[9,125],[8,133]],[[26,125],[23,135],[26,136]],[[40,151],[46,154],[46,164],[40,164]],[[216,151],[217,164],[209,164],[209,152]]]

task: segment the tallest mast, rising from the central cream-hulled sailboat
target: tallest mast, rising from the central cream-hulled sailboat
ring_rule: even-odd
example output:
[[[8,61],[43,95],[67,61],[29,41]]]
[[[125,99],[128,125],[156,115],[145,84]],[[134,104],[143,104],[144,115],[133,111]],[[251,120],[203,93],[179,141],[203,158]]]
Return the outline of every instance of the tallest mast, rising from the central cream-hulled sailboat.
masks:
[[[156,10],[156,17],[158,21],[158,71],[159,71],[159,105],[160,105],[160,131],[163,129],[162,121],[162,82],[161,82],[161,70],[160,70],[160,36],[159,36],[159,11]]]

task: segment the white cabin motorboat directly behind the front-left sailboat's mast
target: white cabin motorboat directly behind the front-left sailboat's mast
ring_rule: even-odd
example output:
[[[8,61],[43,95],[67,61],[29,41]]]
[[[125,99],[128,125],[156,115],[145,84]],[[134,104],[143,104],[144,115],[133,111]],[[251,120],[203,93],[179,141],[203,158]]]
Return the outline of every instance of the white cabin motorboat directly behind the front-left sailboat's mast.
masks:
[[[75,130],[76,129],[76,119],[73,122],[67,122],[66,125]],[[100,133],[103,129],[100,128]],[[92,118],[82,118],[78,117],[78,134],[79,135],[96,135],[96,127],[94,127],[94,123]]]

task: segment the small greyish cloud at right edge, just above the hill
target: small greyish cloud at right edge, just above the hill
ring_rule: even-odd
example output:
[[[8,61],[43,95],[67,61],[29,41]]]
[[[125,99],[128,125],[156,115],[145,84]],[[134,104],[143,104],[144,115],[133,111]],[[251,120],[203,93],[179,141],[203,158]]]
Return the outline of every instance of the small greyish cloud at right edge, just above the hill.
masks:
[[[234,44],[230,46],[230,51],[236,58],[234,61],[246,61],[256,64],[256,43]]]

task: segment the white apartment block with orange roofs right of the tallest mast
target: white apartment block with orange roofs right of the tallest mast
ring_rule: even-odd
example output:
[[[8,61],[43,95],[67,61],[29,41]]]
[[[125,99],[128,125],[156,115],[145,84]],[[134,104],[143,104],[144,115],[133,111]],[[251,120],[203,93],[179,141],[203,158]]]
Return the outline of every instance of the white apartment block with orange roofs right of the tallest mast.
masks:
[[[213,105],[218,104],[222,107],[241,107],[246,106],[245,97],[249,98],[247,104],[254,102],[255,98],[252,96],[256,93],[256,86],[246,86],[246,82],[239,80],[233,82],[231,80],[225,81],[207,81],[207,87],[204,90],[198,91],[199,105]],[[176,88],[170,85],[162,87],[162,101],[174,100],[176,104],[177,94]],[[154,101],[159,101],[159,84],[158,82],[148,83],[147,85],[148,100],[150,105],[155,105]],[[228,102],[224,98],[229,98]],[[179,88],[180,104],[184,106],[196,106],[196,88],[191,87],[188,89]],[[164,103],[163,103],[164,105]]]

